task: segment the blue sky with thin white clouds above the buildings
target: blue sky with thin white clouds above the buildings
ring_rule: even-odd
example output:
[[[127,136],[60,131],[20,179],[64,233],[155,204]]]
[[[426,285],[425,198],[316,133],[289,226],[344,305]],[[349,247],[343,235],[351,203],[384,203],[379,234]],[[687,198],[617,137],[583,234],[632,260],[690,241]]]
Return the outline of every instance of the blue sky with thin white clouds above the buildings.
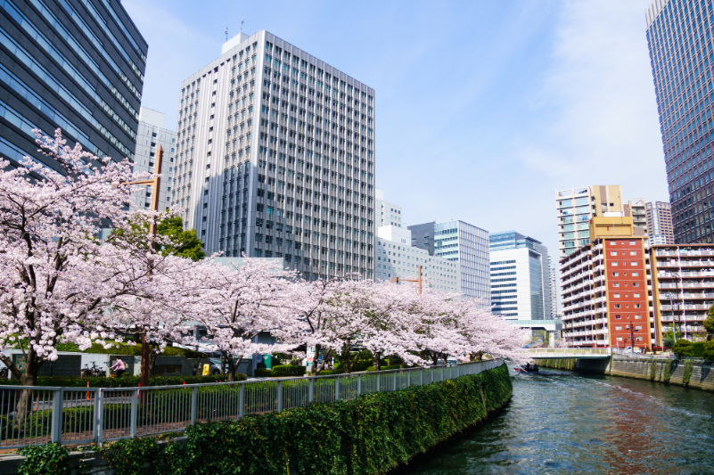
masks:
[[[558,188],[669,201],[646,1],[122,4],[149,43],[144,106],[169,129],[180,82],[242,17],[372,86],[376,182],[406,225],[515,229],[557,255]]]

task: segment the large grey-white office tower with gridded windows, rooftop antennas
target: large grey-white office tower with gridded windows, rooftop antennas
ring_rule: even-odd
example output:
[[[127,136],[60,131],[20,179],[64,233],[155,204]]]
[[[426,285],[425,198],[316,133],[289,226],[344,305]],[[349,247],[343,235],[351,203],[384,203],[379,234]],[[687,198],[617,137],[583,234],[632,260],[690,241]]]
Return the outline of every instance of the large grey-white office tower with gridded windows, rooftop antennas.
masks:
[[[267,31],[181,84],[172,199],[207,252],[373,277],[374,90]]]

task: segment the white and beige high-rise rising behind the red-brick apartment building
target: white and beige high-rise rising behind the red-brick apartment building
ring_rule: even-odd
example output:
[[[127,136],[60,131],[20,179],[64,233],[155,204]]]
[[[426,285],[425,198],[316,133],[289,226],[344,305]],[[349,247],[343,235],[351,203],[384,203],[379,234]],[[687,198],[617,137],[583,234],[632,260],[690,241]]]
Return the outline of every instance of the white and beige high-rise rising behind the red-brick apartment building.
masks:
[[[555,192],[555,208],[558,255],[562,258],[590,242],[588,222],[591,217],[623,212],[622,190],[619,184],[558,190]]]

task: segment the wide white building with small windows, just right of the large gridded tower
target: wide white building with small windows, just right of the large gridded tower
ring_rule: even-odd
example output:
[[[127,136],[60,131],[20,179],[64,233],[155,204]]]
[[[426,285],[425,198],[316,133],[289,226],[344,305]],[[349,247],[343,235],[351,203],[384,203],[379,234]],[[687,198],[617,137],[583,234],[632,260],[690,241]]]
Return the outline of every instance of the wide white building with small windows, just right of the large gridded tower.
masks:
[[[428,285],[440,291],[461,292],[458,262],[430,256],[428,251],[413,247],[408,229],[389,225],[380,227],[377,233],[375,280],[415,279],[422,266],[422,278]]]

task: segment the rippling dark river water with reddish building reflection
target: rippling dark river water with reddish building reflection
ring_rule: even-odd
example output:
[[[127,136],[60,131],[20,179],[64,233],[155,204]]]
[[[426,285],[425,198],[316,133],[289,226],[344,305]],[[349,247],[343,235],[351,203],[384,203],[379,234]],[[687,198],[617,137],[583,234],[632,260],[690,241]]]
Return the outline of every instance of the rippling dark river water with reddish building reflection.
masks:
[[[511,373],[501,413],[407,472],[714,474],[710,392],[546,368]]]

